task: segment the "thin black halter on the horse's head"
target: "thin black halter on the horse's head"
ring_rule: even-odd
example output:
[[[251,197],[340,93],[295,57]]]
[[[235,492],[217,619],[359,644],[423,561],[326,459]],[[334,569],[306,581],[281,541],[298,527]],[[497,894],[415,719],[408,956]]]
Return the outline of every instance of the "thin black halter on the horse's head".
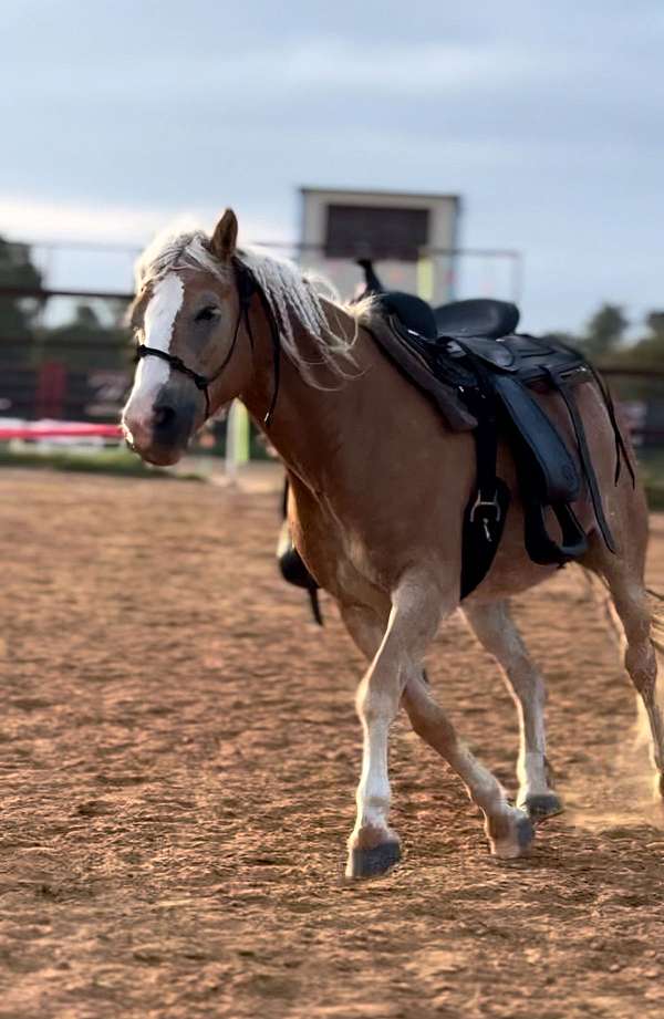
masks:
[[[146,346],[145,343],[139,343],[136,347],[136,361],[138,362],[142,357],[147,357],[148,355],[153,357],[160,357],[162,361],[165,361],[167,364],[169,364],[170,367],[176,372],[180,372],[183,375],[186,375],[187,378],[190,378],[196,388],[200,389],[205,396],[205,418],[207,420],[210,416],[209,387],[214,382],[216,382],[217,378],[219,378],[219,376],[227,367],[230,358],[232,357],[242,322],[245,323],[245,329],[247,331],[247,335],[249,336],[249,343],[251,344],[251,350],[253,351],[253,333],[251,332],[251,319],[249,318],[249,309],[251,305],[251,298],[255,293],[257,293],[266,313],[268,325],[270,327],[270,337],[272,341],[272,360],[274,365],[274,389],[272,392],[272,399],[270,401],[268,413],[263,418],[263,424],[266,427],[268,427],[277,405],[277,397],[279,395],[279,381],[281,375],[281,341],[279,324],[274,318],[274,313],[270,308],[262,288],[259,287],[251,270],[238,259],[234,259],[232,264],[236,273],[240,309],[236,319],[230,347],[228,349],[228,353],[219,367],[211,375],[201,375],[199,372],[195,372],[194,368],[190,368],[187,364],[185,364],[181,357],[178,357],[176,354],[169,354],[167,351],[159,351],[155,346]]]

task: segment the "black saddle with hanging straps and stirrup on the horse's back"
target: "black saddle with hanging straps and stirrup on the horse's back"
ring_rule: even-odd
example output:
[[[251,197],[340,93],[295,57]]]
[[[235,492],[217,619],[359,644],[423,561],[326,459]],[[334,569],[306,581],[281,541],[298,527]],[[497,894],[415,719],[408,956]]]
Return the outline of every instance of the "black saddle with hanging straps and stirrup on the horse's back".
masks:
[[[581,557],[587,534],[572,503],[588,490],[598,528],[615,551],[588,448],[574,388],[594,381],[615,435],[616,481],[621,457],[634,472],[611,396],[594,368],[578,352],[552,340],[515,334],[519,312],[502,301],[459,301],[436,309],[436,334],[418,333],[398,318],[398,302],[382,294],[369,332],[393,363],[429,398],[453,430],[473,430],[477,483],[466,508],[463,532],[461,597],[486,576],[498,548],[509,506],[509,489],[497,477],[498,435],[509,443],[525,511],[525,545],[533,562],[563,564]],[[425,302],[421,302],[425,303]],[[442,327],[443,326],[443,327]],[[575,449],[570,450],[538,402],[538,392],[557,392],[570,416]],[[549,513],[560,537],[549,531]]]

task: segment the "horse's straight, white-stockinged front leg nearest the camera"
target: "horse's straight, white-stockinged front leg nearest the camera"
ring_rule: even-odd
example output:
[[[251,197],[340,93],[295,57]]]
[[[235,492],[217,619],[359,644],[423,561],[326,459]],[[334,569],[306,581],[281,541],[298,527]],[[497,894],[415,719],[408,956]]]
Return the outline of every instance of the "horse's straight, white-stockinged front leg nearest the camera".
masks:
[[[388,824],[390,726],[398,711],[406,678],[422,662],[444,611],[434,585],[413,576],[404,580],[394,593],[383,640],[357,688],[356,708],[364,741],[357,813],[349,840],[349,877],[381,874],[400,859],[398,836]],[[349,625],[351,615],[352,612],[344,613],[344,618],[353,632]],[[372,644],[370,628],[362,630],[356,623],[355,630],[360,634],[357,643],[367,651]]]

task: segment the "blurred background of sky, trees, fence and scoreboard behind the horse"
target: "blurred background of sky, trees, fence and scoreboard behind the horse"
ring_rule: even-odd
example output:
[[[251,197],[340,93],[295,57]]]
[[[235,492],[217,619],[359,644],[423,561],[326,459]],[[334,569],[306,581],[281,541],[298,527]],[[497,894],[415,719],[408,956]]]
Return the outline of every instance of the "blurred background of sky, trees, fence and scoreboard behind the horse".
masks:
[[[6,6],[1,457],[144,469],[115,429],[133,262],[229,205],[345,297],[371,256],[436,303],[517,301],[606,372],[656,489],[663,51],[658,0]]]

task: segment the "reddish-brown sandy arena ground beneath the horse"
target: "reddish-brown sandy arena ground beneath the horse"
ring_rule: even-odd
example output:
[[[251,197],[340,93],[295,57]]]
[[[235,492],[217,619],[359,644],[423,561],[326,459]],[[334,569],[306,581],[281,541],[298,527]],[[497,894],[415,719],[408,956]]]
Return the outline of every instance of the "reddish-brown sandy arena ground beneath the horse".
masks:
[[[664,1015],[662,818],[580,572],[517,606],[567,812],[496,863],[400,720],[405,859],[349,884],[361,663],[279,580],[277,502],[0,474],[1,1019]],[[457,617],[430,676],[513,791],[515,711]]]

